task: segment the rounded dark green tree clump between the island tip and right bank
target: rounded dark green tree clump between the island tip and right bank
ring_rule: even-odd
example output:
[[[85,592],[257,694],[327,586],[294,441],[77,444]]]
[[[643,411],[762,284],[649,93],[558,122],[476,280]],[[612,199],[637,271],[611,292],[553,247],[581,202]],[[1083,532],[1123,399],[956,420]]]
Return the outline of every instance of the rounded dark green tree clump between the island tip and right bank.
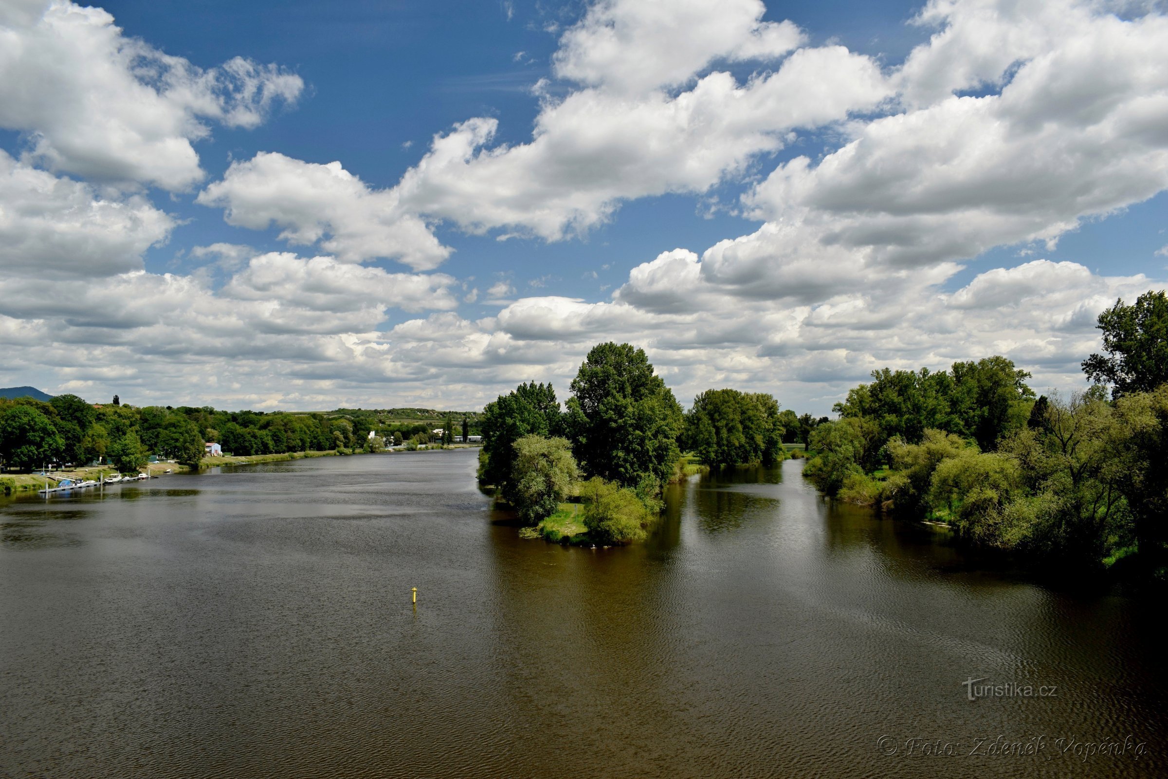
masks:
[[[711,389],[694,398],[682,441],[703,465],[772,465],[784,458],[784,432],[773,396]]]

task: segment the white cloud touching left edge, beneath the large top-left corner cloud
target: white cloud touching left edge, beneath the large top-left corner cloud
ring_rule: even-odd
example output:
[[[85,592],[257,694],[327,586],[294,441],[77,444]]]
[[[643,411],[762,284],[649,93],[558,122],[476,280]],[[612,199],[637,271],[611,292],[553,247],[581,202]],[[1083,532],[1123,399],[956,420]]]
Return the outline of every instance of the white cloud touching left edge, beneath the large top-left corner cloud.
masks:
[[[142,252],[174,224],[141,196],[102,197],[0,151],[0,266],[8,272],[100,278],[140,269]]]

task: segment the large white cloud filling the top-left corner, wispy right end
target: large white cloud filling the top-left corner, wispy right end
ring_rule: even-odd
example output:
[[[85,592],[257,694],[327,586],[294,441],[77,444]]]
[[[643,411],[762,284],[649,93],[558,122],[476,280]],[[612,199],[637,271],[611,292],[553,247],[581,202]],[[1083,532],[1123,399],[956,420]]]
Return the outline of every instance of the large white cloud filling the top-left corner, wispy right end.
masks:
[[[28,133],[29,157],[53,171],[187,189],[203,178],[192,141],[209,134],[204,119],[255,127],[303,88],[242,57],[196,68],[126,37],[100,8],[0,13],[0,127]]]

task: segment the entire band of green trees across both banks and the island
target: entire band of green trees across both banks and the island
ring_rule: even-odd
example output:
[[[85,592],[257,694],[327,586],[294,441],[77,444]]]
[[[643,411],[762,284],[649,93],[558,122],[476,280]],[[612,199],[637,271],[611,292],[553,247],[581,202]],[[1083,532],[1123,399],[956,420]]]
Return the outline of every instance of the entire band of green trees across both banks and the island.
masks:
[[[536,526],[569,499],[596,538],[644,537],[662,487],[707,467],[771,465],[804,444],[804,475],[828,498],[951,527],[964,542],[1075,570],[1168,578],[1168,298],[1149,291],[1099,315],[1104,354],[1070,397],[1036,397],[1030,373],[990,356],[948,370],[872,371],[836,403],[836,419],[780,409],[764,392],[710,389],[686,411],[627,343],[592,348],[561,406],[524,383],[481,413],[217,411],[93,406],[63,395],[0,398],[0,458],[29,470],[64,458],[119,467],[153,452],[199,464],[204,441],[242,454],[375,451],[481,433],[480,480]],[[404,410],[395,410],[404,411]],[[373,431],[374,437],[368,433]],[[137,467],[134,465],[134,467]],[[128,470],[128,468],[127,468]]]

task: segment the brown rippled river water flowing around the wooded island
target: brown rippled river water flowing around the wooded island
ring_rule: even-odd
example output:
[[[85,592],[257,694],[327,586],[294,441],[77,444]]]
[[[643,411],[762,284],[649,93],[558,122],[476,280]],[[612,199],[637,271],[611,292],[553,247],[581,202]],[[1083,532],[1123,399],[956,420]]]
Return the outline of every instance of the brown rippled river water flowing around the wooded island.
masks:
[[[0,502],[0,775],[1168,773],[1161,604],[987,570],[801,461],[596,550],[521,541],[474,467]]]

